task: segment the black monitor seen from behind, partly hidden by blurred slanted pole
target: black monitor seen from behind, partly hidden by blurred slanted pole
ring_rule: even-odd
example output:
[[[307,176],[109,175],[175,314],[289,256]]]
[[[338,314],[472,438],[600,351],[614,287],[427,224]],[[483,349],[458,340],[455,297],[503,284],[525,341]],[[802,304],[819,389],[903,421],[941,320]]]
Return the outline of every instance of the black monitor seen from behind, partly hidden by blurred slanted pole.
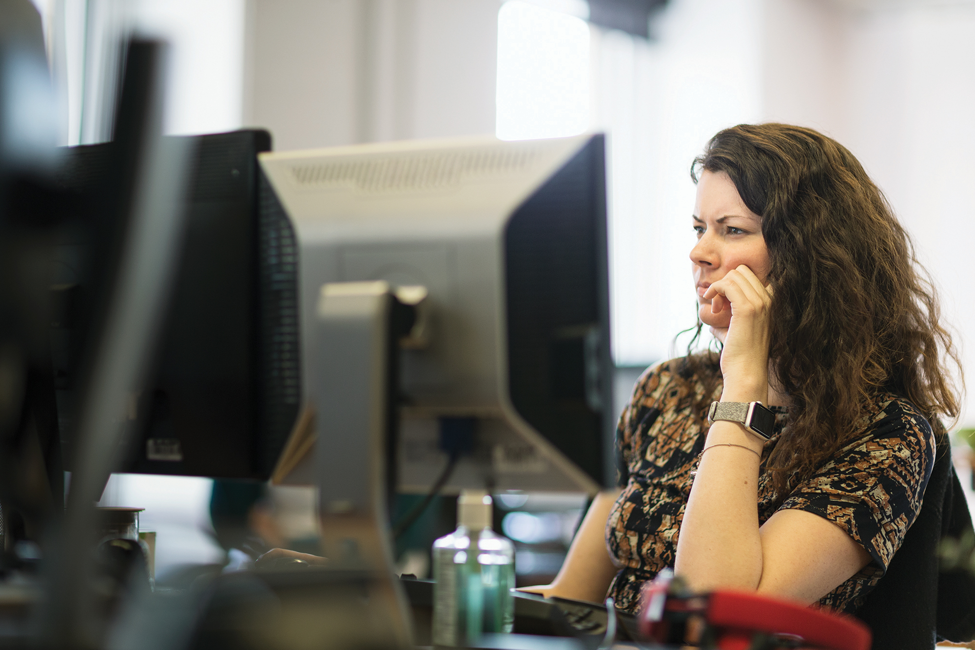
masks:
[[[188,140],[195,162],[171,304],[153,379],[133,401],[137,435],[116,470],[266,480],[300,398],[292,228],[273,195],[260,191],[266,182],[256,154],[271,148],[270,134]],[[65,150],[62,183],[79,197],[79,210],[97,205],[93,194],[111,183],[112,146]],[[56,294],[59,305],[74,305],[63,312],[85,300],[83,270],[94,249],[84,234],[61,246]],[[56,319],[52,335],[60,429],[70,431],[77,367],[71,319]]]

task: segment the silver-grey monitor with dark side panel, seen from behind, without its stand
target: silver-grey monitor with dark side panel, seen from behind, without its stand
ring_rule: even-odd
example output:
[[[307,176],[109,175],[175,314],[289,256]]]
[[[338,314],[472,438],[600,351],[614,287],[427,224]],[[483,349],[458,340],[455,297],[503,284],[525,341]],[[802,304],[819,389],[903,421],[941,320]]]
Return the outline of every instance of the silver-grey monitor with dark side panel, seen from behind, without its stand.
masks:
[[[326,283],[428,291],[402,351],[399,489],[426,492],[443,419],[476,445],[445,489],[614,481],[604,138],[474,138],[262,153],[299,241],[303,384]]]

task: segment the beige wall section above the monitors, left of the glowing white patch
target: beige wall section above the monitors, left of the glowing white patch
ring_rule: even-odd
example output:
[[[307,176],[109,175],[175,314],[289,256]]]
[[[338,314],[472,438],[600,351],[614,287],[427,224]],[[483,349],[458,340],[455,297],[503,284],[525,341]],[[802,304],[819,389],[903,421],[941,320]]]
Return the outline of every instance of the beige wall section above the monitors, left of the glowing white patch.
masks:
[[[275,148],[491,133],[497,0],[250,0],[244,120]]]

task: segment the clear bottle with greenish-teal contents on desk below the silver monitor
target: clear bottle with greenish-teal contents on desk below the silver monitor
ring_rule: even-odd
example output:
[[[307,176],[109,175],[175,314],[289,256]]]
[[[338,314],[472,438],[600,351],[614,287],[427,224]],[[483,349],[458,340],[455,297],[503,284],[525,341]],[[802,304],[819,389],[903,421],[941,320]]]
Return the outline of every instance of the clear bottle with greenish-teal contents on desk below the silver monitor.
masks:
[[[470,645],[485,632],[510,632],[515,622],[515,549],[491,530],[491,499],[465,490],[457,530],[433,545],[433,642]],[[474,545],[472,546],[472,541]]]

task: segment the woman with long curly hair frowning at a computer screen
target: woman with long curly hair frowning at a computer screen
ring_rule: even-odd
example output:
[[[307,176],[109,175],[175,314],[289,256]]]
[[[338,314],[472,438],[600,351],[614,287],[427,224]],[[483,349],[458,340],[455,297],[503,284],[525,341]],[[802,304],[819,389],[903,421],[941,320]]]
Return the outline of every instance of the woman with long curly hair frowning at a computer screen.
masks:
[[[957,417],[937,298],[878,187],[822,134],[726,129],[691,177],[697,335],[722,351],[643,374],[617,430],[620,491],[533,590],[635,611],[673,567],[694,590],[855,611],[917,517],[940,418]],[[761,402],[774,424],[709,426],[714,401],[719,418]]]

